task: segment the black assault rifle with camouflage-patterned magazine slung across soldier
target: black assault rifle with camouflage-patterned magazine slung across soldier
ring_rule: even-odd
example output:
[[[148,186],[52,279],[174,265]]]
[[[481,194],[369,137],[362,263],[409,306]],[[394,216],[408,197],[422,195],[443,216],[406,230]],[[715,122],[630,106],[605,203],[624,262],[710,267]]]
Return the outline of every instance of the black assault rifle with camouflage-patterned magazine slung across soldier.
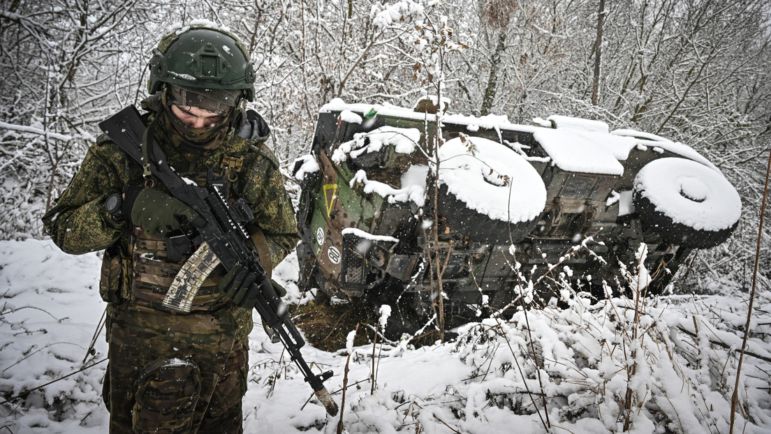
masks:
[[[216,183],[198,187],[180,177],[180,174],[170,167],[166,154],[153,140],[152,134],[145,134],[146,126],[134,106],[128,106],[99,123],[99,128],[129,156],[142,164],[146,174],[152,173],[170,190],[173,197],[200,215],[194,224],[187,225],[186,230],[190,241],[200,247],[174,278],[163,304],[177,311],[190,311],[190,305],[200,285],[217,264],[222,264],[227,271],[236,264],[244,265],[257,276],[254,284],[258,285],[259,291],[254,308],[268,327],[278,334],[291,359],[305,375],[305,381],[311,385],[327,412],[336,415],[338,406],[324,386],[324,381],[332,377],[332,371],[318,375],[311,372],[300,353],[305,341],[292,323],[286,305],[273,288],[258,254],[245,243],[249,235],[244,224],[254,218],[246,201],[241,198],[232,205],[228,204]]]

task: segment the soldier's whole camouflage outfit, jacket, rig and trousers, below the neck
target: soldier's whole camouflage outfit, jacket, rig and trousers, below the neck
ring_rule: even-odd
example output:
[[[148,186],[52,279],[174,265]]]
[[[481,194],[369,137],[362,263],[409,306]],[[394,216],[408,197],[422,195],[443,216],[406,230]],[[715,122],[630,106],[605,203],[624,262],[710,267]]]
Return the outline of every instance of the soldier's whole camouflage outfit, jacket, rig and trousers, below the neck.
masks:
[[[152,119],[146,116],[146,120]],[[246,120],[237,133],[231,129],[221,146],[202,153],[173,145],[163,128],[155,137],[171,167],[183,177],[203,183],[211,169],[232,181],[227,183],[228,194],[244,197],[251,207],[254,220],[247,230],[254,234],[262,261],[270,269],[298,241],[295,214],[278,160],[264,144],[267,124],[251,111],[241,111],[241,116]],[[187,432],[189,423],[193,427],[204,424],[204,432],[207,423],[214,423],[211,418],[217,420],[216,432],[241,432],[246,338],[252,328],[252,312],[237,308],[218,290],[224,275],[221,266],[204,281],[190,314],[162,307],[163,297],[187,257],[169,261],[162,235],[149,236],[141,228],[113,220],[104,207],[109,194],[123,191],[127,185],[145,185],[142,173],[139,163],[106,136],[99,136],[56,206],[43,217],[46,230],[62,251],[82,254],[106,249],[99,292],[108,303],[110,362],[105,399],[111,432],[143,432],[147,421],[157,422],[147,428],[152,432]],[[156,180],[153,188],[163,190],[157,184]],[[179,370],[158,362],[169,359],[181,361],[170,365]],[[153,363],[163,366],[152,369]],[[170,394],[180,387],[180,396]],[[195,405],[187,395],[192,390],[199,390]],[[183,402],[187,404],[181,405]],[[194,415],[183,414],[186,408],[194,409]],[[232,430],[222,418],[232,419]]]

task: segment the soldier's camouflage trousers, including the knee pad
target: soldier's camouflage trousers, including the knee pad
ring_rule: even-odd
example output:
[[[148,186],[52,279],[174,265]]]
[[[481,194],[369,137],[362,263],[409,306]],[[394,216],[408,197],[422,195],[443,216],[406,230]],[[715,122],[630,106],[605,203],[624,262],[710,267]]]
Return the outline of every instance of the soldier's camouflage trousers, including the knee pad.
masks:
[[[109,432],[241,433],[247,341],[227,309],[113,312],[103,399]]]

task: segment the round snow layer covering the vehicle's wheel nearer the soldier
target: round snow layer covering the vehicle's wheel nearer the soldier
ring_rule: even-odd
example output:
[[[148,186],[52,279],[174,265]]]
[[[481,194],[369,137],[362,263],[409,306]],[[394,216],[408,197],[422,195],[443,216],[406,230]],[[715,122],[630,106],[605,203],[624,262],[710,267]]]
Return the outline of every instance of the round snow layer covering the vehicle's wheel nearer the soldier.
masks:
[[[457,137],[439,148],[439,158],[439,183],[472,210],[511,223],[533,220],[544,210],[544,182],[508,146]]]

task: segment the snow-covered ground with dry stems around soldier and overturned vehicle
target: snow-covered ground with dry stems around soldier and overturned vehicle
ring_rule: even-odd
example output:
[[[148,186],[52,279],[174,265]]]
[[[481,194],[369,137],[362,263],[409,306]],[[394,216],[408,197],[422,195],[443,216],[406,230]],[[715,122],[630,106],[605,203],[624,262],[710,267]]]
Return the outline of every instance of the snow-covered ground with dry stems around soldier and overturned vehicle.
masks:
[[[0,432],[106,432],[103,331],[88,353],[104,311],[98,274],[97,254],[0,241]],[[277,274],[296,300],[296,258]],[[335,372],[327,387],[338,403],[350,361],[341,407],[351,433],[729,432],[748,296],[727,284],[701,289],[717,295],[673,295],[637,309],[628,299],[579,297],[571,308],[467,325],[443,345],[306,346],[303,354]],[[735,432],[771,431],[769,301],[769,291],[756,298]],[[259,326],[250,338],[245,432],[335,432],[339,417],[310,399],[281,345]]]

